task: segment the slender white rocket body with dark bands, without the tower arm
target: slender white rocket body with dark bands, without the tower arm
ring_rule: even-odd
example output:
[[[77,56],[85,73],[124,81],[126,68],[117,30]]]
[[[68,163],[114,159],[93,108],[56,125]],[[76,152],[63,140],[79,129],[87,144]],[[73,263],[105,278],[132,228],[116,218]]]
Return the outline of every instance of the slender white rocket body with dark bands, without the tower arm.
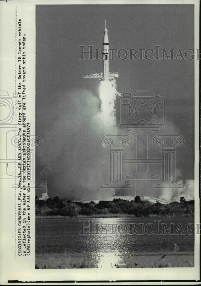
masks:
[[[106,20],[103,37],[103,80],[109,80],[109,40],[107,34]]]

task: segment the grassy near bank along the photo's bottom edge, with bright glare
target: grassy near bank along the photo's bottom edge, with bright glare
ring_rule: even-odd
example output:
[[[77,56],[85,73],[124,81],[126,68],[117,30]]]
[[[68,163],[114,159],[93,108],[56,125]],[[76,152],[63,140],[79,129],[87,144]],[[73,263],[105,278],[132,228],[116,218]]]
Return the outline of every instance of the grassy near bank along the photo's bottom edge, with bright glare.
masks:
[[[121,257],[110,255],[98,259],[80,257],[64,253],[36,255],[36,269],[53,268],[155,268],[155,267],[194,267],[193,253],[145,253]]]

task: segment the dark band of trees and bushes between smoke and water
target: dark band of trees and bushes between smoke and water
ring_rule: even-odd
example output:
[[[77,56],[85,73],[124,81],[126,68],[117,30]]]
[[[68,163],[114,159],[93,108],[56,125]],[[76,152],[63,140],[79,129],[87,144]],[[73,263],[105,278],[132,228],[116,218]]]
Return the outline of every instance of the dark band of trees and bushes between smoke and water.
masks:
[[[113,201],[100,201],[95,204],[72,202],[70,200],[60,200],[58,196],[54,199],[48,198],[46,201],[38,200],[36,197],[36,216],[115,216],[116,214],[126,214],[133,217],[192,217],[194,216],[194,200],[186,201],[184,197],[180,202],[169,204],[155,204],[143,201],[139,196],[135,200],[127,201],[120,198]]]

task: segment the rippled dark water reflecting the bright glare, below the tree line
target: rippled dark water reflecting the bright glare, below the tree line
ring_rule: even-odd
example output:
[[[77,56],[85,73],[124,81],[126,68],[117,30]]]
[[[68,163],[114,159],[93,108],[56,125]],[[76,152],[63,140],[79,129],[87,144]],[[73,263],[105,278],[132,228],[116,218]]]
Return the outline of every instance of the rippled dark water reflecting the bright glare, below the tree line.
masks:
[[[81,230],[80,220],[85,220],[85,226],[89,225],[89,220],[93,220],[92,234],[89,234],[87,228]],[[174,233],[179,224],[184,230],[186,224],[194,223],[193,218],[36,219],[36,261],[40,264],[41,259],[51,260],[52,257],[53,264],[55,264],[58,259],[65,258],[63,261],[58,262],[63,265],[68,264],[65,268],[86,267],[85,264],[88,264],[87,267],[110,267],[112,265],[117,266],[117,264],[118,267],[129,267],[132,258],[137,255],[153,257],[153,255],[160,256],[164,253],[192,253],[194,251],[194,235],[149,235],[145,233],[146,231],[143,228],[141,233],[144,234],[132,234],[131,224],[134,223],[137,225],[137,233],[140,233],[140,224],[142,227],[146,223],[154,223],[154,228],[149,226],[147,232],[156,231],[155,225],[157,222],[154,222],[156,220],[160,221],[159,233],[163,232],[161,223],[166,223],[167,227],[170,223],[173,223]],[[104,225],[100,229],[100,224],[103,223]],[[112,231],[111,225],[108,224],[117,224],[117,227],[120,224],[123,225],[119,227],[119,231],[114,225]],[[190,229],[192,227],[189,226],[188,231]],[[80,234],[81,232],[85,234]],[[178,246],[177,249],[175,244]],[[53,265],[52,268],[54,268]]]

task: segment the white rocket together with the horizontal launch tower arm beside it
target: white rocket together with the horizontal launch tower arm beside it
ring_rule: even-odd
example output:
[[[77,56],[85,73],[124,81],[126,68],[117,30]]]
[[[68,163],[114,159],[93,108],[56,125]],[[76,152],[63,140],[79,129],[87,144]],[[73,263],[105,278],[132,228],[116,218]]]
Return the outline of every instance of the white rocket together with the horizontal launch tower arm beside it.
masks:
[[[103,72],[100,74],[88,74],[83,78],[100,78],[101,81],[109,80],[113,85],[116,84],[116,78],[119,77],[118,72],[109,72],[109,40],[107,34],[107,26],[105,20],[104,36],[103,36],[103,49],[101,50],[101,60],[103,61]]]

